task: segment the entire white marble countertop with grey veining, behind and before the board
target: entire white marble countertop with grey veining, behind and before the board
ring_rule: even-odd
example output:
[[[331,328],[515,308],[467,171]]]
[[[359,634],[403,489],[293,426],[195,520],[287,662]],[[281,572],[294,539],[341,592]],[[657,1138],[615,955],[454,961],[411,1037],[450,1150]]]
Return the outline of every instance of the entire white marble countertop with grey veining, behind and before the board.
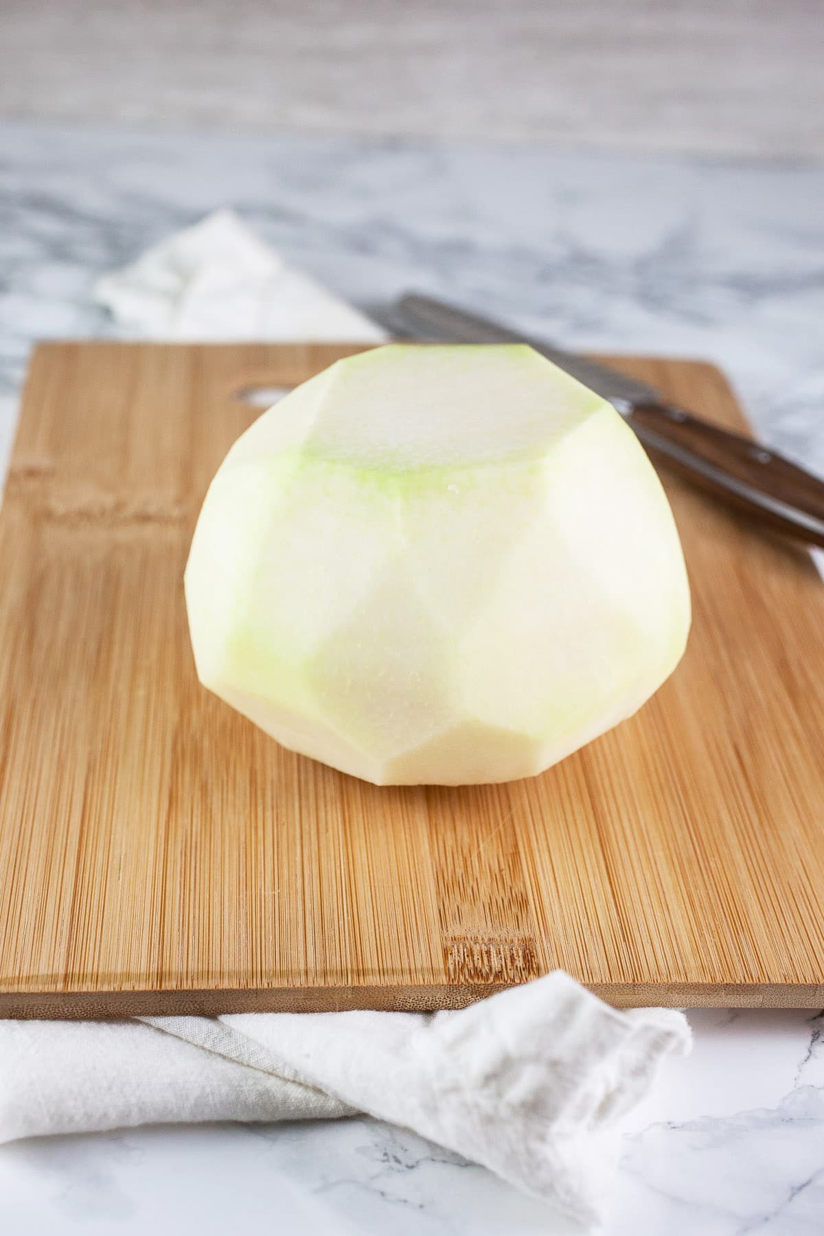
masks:
[[[114,335],[94,277],[220,205],[368,305],[416,287],[574,347],[703,356],[824,472],[824,168],[406,142],[0,129],[0,466],[32,340]],[[824,805],[823,805],[824,806]],[[810,1011],[691,1015],[626,1125],[609,1236],[824,1229]],[[369,1120],[145,1128],[0,1148],[0,1230],[562,1232]]]

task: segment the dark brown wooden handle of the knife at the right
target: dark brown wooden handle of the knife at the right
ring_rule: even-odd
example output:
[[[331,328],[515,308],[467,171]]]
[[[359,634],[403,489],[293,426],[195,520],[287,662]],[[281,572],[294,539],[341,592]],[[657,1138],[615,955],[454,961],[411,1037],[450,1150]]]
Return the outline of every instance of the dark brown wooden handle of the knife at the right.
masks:
[[[639,403],[626,417],[656,460],[736,510],[824,546],[824,481],[777,451],[672,404]]]

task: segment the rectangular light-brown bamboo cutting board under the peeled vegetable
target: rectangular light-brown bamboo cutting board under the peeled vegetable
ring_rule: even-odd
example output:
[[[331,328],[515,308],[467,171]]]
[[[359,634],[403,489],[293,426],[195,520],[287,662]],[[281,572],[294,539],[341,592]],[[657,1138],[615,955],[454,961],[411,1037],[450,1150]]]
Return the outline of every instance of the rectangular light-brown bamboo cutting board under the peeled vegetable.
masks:
[[[199,686],[182,576],[237,392],[342,351],[37,350],[0,514],[0,1014],[432,1009],[555,967],[618,1005],[823,1005],[824,588],[684,483],[687,655],[541,777],[376,789]],[[621,363],[742,424],[718,371]]]

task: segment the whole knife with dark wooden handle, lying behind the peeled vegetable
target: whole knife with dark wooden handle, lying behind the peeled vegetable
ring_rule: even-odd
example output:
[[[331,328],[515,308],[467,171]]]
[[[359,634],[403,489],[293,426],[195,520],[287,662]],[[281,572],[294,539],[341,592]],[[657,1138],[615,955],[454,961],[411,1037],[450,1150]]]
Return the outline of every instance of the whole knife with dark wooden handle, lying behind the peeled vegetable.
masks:
[[[728,506],[824,548],[824,481],[777,451],[702,420],[650,383],[562,351],[431,297],[400,297],[387,318],[397,334],[452,344],[529,344],[608,399],[656,457]]]

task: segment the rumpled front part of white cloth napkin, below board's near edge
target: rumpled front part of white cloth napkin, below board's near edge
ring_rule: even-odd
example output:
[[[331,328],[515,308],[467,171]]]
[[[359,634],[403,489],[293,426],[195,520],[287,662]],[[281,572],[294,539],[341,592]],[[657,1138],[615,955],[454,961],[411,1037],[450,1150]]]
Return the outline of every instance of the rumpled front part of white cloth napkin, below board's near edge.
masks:
[[[458,1012],[0,1021],[0,1141],[126,1125],[367,1112],[591,1224],[619,1119],[689,1044],[556,971]]]

